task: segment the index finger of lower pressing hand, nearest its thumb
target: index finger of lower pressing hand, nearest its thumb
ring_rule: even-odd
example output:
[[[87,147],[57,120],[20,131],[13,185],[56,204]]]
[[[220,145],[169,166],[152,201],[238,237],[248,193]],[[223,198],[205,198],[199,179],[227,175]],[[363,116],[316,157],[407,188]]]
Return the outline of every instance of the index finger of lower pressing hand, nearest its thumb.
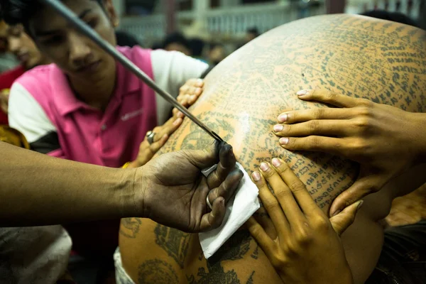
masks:
[[[291,194],[297,201],[297,208],[302,209],[302,212],[306,216],[311,216],[312,214],[317,214],[318,211],[321,211],[307,191],[305,184],[299,178],[297,178],[293,170],[291,170],[283,160],[279,158],[273,158],[272,165],[280,175],[280,178],[282,178],[285,184],[290,188]],[[288,216],[286,212],[287,207],[283,208],[285,215]],[[296,211],[296,209],[294,210]],[[288,219],[290,219],[290,217],[288,217]]]

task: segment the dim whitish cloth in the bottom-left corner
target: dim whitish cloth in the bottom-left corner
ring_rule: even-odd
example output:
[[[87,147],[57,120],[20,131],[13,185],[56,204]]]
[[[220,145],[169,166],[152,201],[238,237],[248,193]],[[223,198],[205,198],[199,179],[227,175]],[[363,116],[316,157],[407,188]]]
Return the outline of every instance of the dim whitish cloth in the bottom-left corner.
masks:
[[[62,226],[0,228],[0,283],[56,283],[67,270],[71,246]]]

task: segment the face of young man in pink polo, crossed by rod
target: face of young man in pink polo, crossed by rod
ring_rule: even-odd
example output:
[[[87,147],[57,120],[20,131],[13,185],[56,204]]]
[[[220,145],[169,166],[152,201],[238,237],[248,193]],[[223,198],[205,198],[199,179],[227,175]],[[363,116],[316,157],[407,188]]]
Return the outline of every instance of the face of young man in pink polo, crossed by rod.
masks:
[[[92,0],[62,2],[104,40],[116,45],[113,24],[117,18],[111,0],[104,0],[104,9]],[[33,16],[28,29],[41,53],[73,79],[99,82],[115,76],[114,58],[77,32],[50,7]]]

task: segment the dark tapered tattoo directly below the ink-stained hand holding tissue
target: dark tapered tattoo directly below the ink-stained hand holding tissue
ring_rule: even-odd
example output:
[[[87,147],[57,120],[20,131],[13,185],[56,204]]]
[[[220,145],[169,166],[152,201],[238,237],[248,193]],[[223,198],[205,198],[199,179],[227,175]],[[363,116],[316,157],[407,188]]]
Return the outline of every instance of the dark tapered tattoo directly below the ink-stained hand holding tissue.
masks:
[[[154,229],[155,244],[165,250],[183,268],[191,234],[157,224]]]

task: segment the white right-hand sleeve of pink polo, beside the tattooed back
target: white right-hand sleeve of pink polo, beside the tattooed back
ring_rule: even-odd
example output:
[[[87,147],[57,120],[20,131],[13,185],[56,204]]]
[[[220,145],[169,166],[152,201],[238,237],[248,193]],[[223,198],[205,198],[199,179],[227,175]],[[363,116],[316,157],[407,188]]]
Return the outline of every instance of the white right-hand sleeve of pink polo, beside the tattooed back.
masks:
[[[173,97],[178,97],[179,88],[187,80],[202,77],[209,68],[206,63],[177,51],[153,50],[151,62],[155,82]],[[170,116],[172,107],[158,94],[156,102],[158,124],[161,125]]]

